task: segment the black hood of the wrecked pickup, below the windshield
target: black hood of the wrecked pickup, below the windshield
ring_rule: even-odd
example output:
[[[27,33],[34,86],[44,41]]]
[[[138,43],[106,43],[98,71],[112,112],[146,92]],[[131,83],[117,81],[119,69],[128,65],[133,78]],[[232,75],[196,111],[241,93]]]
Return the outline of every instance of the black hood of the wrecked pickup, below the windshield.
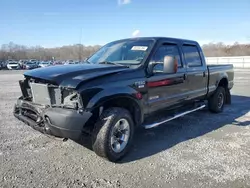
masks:
[[[46,80],[62,87],[77,88],[84,81],[126,69],[124,66],[103,64],[55,65],[27,71],[24,76]]]

